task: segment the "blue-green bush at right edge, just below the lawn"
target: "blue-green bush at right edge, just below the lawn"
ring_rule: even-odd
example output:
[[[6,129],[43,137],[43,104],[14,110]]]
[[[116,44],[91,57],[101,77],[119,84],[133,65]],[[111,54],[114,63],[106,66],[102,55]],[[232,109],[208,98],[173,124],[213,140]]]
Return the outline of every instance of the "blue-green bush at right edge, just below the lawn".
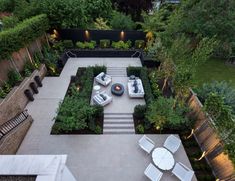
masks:
[[[199,99],[204,102],[210,93],[217,93],[224,99],[224,103],[233,108],[235,113],[235,89],[226,81],[205,83],[201,88],[196,90]]]

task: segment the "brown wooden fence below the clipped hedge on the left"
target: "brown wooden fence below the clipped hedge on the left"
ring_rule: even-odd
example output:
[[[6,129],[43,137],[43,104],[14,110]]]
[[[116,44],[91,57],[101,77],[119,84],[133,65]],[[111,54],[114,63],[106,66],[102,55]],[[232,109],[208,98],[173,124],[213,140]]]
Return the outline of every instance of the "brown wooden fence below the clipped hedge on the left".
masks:
[[[45,38],[40,37],[28,46],[28,50],[21,48],[12,54],[11,59],[0,60],[0,85],[7,81],[7,74],[11,69],[17,68],[18,71],[22,71],[26,61],[29,61],[29,54],[32,56],[35,52],[41,51],[44,42]]]

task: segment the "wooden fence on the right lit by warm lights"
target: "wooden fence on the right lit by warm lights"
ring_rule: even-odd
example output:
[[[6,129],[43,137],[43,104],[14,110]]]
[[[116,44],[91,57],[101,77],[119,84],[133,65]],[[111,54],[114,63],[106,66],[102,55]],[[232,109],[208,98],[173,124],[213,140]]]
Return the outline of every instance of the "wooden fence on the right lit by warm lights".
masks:
[[[223,143],[219,139],[213,120],[203,111],[203,105],[197,95],[191,91],[189,107],[196,118],[194,137],[202,151],[206,152],[206,159],[214,175],[221,180],[233,180],[234,166],[228,155],[223,152]]]

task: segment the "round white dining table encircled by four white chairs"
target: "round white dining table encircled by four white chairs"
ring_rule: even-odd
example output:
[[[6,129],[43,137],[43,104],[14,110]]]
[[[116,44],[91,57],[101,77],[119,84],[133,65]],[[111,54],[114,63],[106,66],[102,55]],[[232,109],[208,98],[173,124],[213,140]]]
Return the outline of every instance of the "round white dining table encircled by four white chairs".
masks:
[[[158,147],[152,152],[154,164],[162,170],[170,170],[175,164],[175,160],[171,152],[166,148]]]

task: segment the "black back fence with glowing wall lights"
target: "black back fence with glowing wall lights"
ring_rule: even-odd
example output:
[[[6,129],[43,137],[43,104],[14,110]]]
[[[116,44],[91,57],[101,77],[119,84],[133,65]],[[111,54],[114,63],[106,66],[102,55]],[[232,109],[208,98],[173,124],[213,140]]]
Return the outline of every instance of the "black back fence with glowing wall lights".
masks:
[[[59,37],[62,40],[90,41],[99,42],[102,39],[110,41],[145,40],[146,33],[143,31],[122,31],[122,30],[80,30],[80,29],[61,29],[58,30]]]

